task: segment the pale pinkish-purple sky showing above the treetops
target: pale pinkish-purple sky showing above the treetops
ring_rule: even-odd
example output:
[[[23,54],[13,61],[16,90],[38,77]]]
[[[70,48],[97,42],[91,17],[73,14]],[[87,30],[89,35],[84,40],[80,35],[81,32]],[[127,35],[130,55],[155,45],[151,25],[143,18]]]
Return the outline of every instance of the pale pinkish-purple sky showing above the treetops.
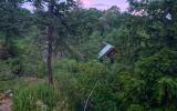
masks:
[[[81,0],[83,8],[96,8],[96,9],[108,9],[112,6],[117,6],[121,11],[126,11],[128,3],[126,0]],[[30,3],[24,3],[23,8],[32,10],[33,7]]]

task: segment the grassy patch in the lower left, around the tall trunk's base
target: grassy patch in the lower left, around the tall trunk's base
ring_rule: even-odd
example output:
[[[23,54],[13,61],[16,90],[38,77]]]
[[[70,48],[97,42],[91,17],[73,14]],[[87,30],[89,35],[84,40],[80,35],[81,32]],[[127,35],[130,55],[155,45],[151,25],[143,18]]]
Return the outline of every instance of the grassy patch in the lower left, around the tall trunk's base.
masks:
[[[13,90],[12,111],[67,111],[67,99],[44,79],[14,78],[0,81],[0,90]]]

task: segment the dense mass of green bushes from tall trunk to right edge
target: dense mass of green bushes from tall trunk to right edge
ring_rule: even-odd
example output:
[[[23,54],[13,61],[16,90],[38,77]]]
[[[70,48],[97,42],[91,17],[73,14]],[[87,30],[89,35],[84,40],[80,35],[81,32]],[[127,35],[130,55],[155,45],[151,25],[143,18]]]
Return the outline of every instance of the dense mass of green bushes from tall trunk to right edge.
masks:
[[[162,111],[171,110],[176,105],[176,79],[173,77],[176,75],[177,62],[174,50],[162,49],[158,53],[139,60],[135,68],[121,63],[107,67],[110,64],[96,61],[61,62],[55,67],[59,68],[55,78],[62,90],[67,90],[66,97],[71,98],[73,109],[83,109],[97,81],[88,102],[90,110]],[[76,97],[74,101],[71,93]]]

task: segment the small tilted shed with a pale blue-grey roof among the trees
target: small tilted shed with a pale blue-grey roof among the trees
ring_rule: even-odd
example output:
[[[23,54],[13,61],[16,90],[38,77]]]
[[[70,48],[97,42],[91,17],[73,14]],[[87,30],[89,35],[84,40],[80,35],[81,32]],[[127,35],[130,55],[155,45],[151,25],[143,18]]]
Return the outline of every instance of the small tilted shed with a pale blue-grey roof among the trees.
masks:
[[[97,59],[100,61],[103,61],[103,58],[107,57],[107,58],[110,58],[111,63],[114,63],[115,53],[116,53],[116,50],[115,50],[114,46],[108,44],[106,42],[103,42],[102,50],[98,52]]]

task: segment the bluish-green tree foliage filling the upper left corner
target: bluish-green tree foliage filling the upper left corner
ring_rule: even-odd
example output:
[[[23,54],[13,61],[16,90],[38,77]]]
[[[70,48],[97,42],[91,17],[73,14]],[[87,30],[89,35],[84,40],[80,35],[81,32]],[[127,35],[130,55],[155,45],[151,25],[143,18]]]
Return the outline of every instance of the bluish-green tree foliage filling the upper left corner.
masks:
[[[29,28],[30,12],[22,9],[20,6],[24,0],[1,0],[0,1],[0,33],[4,37],[2,40],[11,48],[13,40],[17,37],[22,37],[22,33]]]

